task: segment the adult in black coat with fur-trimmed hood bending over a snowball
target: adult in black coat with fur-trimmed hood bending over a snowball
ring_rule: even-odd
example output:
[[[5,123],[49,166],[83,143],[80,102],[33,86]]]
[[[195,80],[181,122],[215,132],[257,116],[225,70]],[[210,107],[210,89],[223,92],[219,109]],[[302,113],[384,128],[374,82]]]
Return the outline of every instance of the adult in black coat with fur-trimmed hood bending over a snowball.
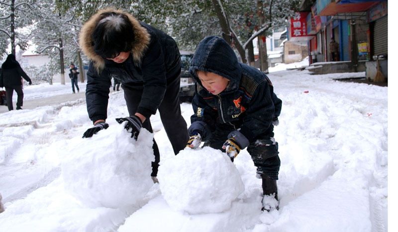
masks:
[[[129,112],[116,121],[127,121],[131,137],[137,138],[141,127],[153,132],[149,117],[159,110],[174,153],[184,149],[188,131],[179,104],[181,57],[174,39],[125,11],[106,8],[83,25],[79,43],[91,60],[86,102],[94,123],[83,137],[108,127],[106,108],[113,77],[121,82]],[[156,176],[159,149],[155,141],[153,148],[152,176]]]

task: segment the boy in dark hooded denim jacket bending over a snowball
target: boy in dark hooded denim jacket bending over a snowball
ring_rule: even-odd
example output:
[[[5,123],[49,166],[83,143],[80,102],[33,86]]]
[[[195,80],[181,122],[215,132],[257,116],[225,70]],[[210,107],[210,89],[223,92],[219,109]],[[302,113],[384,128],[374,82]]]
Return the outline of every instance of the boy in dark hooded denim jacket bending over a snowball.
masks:
[[[278,209],[281,160],[273,123],[277,125],[282,100],[271,81],[256,68],[238,63],[229,44],[215,36],[199,43],[190,73],[197,82],[187,147],[196,149],[203,140],[204,146],[225,151],[232,161],[247,147],[264,196],[275,198],[263,200],[263,210]]]

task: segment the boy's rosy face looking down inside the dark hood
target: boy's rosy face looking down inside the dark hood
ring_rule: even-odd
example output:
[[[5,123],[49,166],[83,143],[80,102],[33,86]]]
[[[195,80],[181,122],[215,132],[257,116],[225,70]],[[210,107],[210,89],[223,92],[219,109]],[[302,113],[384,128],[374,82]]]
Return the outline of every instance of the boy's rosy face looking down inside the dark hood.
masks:
[[[203,87],[213,95],[224,91],[229,82],[229,79],[215,73],[197,71],[197,75]]]

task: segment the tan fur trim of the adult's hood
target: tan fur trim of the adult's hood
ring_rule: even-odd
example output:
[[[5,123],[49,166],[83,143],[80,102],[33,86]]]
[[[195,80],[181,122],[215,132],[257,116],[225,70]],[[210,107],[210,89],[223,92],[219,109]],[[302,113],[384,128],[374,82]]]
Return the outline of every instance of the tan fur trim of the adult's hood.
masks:
[[[120,14],[124,14],[128,17],[131,24],[133,25],[135,40],[133,42],[133,47],[131,50],[131,55],[135,64],[141,63],[141,58],[144,55],[145,50],[148,48],[151,37],[148,31],[141,26],[140,22],[134,18],[131,14],[114,8],[106,8],[99,10],[96,14],[91,16],[91,18],[83,25],[79,34],[79,45],[84,54],[93,61],[94,67],[96,67],[97,71],[100,71],[105,66],[104,59],[97,55],[94,51],[92,34],[97,23],[100,20],[100,15],[105,12],[116,12]]]

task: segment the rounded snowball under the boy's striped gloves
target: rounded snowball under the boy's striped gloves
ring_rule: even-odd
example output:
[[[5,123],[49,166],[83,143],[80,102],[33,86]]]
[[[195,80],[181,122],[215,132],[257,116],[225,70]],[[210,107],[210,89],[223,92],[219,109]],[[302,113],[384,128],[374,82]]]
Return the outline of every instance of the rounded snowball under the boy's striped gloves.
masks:
[[[159,187],[169,206],[190,214],[220,213],[244,191],[226,154],[205,147],[185,149],[159,166]]]

